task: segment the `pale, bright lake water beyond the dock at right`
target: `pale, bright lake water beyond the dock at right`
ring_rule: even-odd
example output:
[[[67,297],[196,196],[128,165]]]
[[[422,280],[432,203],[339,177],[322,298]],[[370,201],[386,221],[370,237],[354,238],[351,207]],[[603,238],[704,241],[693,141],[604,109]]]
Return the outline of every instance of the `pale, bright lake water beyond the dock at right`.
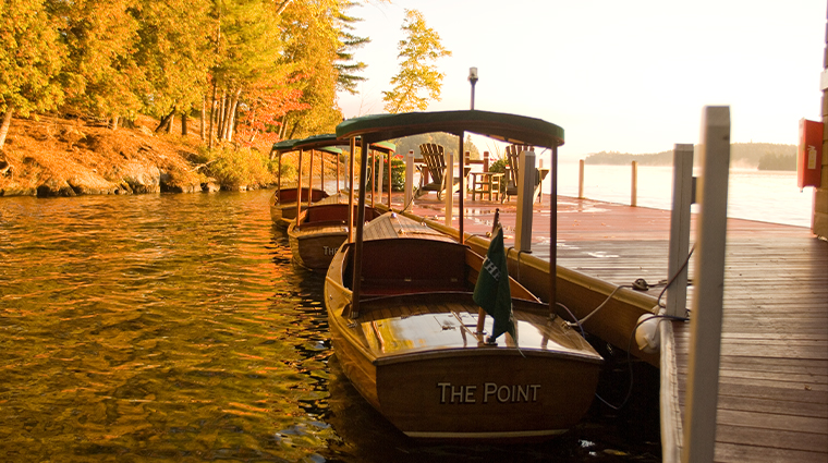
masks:
[[[558,193],[576,197],[577,161],[561,161],[559,170]],[[631,183],[630,166],[584,167],[584,196],[589,199],[630,204]],[[672,167],[638,166],[637,185],[638,206],[672,208]],[[730,170],[728,217],[811,227],[813,202],[813,188],[796,186],[796,172]]]

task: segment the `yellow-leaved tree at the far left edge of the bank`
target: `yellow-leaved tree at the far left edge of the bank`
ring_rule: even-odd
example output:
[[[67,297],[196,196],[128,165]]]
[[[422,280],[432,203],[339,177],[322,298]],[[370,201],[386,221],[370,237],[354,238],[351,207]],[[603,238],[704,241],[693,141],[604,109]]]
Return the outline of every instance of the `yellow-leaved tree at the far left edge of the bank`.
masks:
[[[57,81],[65,57],[42,0],[3,0],[0,8],[0,148],[12,114],[27,117],[57,107]]]

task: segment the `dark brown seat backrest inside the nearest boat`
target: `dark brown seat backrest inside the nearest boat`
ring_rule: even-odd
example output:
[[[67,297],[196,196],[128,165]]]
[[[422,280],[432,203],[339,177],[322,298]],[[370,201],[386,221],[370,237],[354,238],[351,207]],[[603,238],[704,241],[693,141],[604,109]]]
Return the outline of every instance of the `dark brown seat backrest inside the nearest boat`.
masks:
[[[366,241],[363,247],[363,293],[466,291],[465,249],[458,243],[434,240]]]

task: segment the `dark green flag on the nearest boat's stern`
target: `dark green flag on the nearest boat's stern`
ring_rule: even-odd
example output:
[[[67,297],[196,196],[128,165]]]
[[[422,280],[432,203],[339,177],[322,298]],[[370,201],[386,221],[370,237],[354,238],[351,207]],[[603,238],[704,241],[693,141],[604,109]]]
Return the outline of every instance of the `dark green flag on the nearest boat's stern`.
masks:
[[[512,321],[512,294],[509,291],[509,273],[503,248],[503,229],[489,243],[486,260],[474,287],[474,302],[495,318],[495,328],[487,342],[494,342],[500,334],[509,332],[514,338]]]

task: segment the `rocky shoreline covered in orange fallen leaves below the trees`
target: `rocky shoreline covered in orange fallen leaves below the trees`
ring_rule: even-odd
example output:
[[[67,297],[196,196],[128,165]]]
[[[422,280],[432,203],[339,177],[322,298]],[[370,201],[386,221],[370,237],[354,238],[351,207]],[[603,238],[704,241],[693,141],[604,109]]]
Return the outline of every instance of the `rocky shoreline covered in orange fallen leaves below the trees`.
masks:
[[[202,173],[195,136],[147,125],[111,130],[80,120],[15,119],[0,150],[0,196],[129,195],[245,191]]]

